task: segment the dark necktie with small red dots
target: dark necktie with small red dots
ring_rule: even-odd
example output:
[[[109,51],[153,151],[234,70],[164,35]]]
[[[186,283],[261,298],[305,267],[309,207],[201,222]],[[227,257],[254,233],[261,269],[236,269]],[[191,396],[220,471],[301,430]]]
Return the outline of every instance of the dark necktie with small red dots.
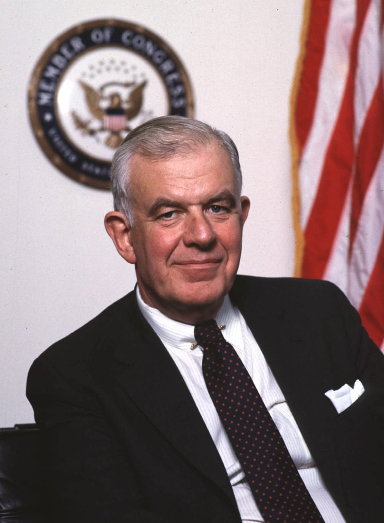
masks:
[[[214,320],[195,327],[212,401],[267,523],[323,523],[267,407]]]

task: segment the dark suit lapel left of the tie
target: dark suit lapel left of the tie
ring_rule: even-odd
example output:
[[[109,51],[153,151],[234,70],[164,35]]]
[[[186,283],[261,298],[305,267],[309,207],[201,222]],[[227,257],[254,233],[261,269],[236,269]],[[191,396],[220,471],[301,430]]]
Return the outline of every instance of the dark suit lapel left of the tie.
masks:
[[[141,315],[136,299],[129,319],[115,330],[119,386],[163,436],[234,501],[231,485],[209,431],[171,356]]]

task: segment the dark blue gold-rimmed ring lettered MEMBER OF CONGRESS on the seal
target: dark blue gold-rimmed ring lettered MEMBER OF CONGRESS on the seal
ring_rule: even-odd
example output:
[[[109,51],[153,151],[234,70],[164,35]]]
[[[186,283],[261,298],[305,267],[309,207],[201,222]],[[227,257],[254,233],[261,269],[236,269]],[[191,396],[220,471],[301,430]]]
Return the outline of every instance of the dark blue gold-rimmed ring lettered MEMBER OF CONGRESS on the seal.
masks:
[[[68,140],[59,121],[56,95],[69,65],[84,53],[105,46],[137,53],[152,65],[166,88],[170,115],[191,118],[194,111],[192,89],[183,64],[153,32],[123,20],[103,19],[80,24],[59,36],[43,53],[32,74],[29,85],[32,129],[57,168],[97,188],[110,188],[110,162],[87,155]]]

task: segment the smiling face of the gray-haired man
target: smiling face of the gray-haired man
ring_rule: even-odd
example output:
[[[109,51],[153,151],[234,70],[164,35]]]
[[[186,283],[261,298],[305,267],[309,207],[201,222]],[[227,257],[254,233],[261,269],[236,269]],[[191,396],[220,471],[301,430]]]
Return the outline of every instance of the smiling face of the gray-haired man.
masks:
[[[143,300],[186,323],[213,317],[232,287],[249,209],[229,155],[217,144],[157,162],[135,155],[131,173],[135,223],[124,257]]]

